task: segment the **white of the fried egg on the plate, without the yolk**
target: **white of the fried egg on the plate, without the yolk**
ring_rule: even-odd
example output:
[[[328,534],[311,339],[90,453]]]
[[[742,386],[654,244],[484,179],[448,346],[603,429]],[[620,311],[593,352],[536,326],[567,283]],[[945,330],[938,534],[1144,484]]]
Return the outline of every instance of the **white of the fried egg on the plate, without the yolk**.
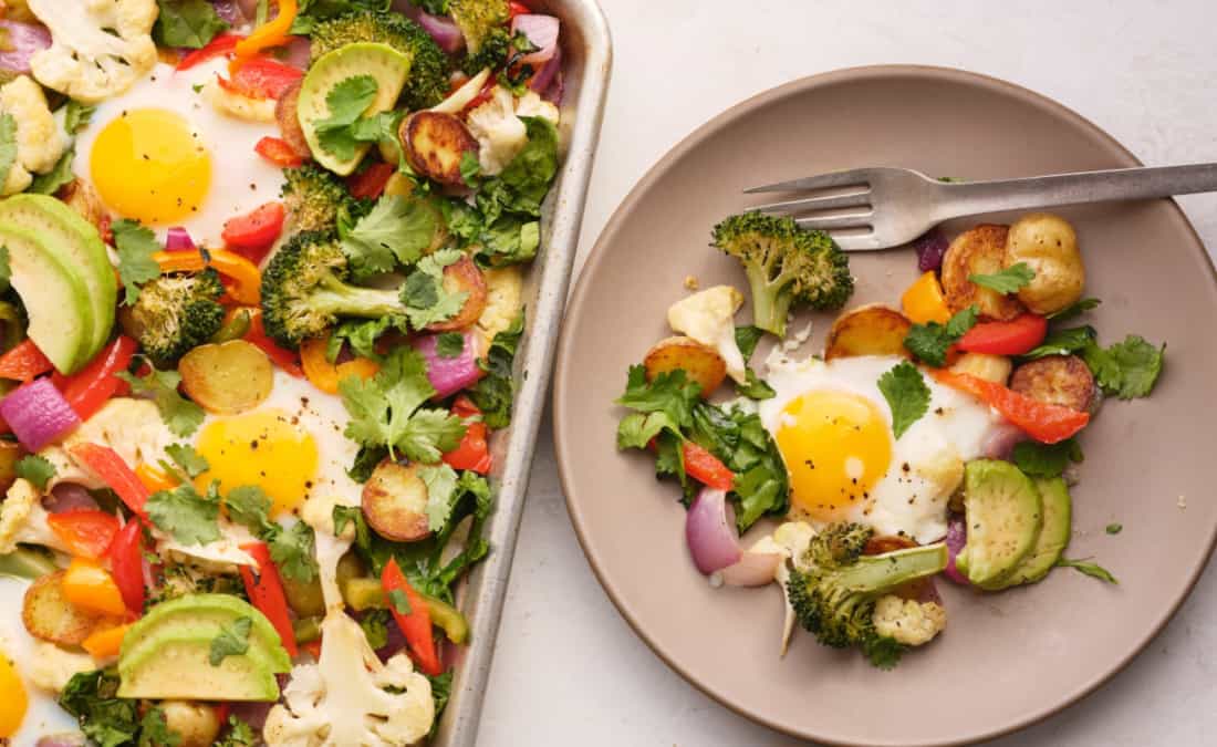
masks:
[[[879,377],[903,360],[898,356],[839,358],[828,363],[793,360],[779,348],[768,360],[767,381],[775,395],[759,403],[761,421],[776,434],[783,409],[791,400],[832,389],[870,400],[891,431],[892,411],[879,389]],[[930,388],[929,410],[901,438],[892,439],[891,462],[869,492],[870,500],[848,511],[849,521],[869,524],[880,534],[904,534],[922,544],[946,535],[947,501],[959,484],[964,462],[981,456],[987,438],[1004,422],[991,408],[966,394],[929,376],[925,383]]]

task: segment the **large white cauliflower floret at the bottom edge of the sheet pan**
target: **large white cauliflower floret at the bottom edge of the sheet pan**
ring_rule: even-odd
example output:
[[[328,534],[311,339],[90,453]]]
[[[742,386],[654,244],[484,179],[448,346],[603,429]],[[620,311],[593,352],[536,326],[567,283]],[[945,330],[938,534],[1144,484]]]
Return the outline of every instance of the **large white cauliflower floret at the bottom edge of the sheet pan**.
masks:
[[[404,653],[382,664],[359,623],[341,610],[321,623],[320,659],[292,668],[284,700],[267,717],[268,747],[413,745],[436,718],[427,678]]]

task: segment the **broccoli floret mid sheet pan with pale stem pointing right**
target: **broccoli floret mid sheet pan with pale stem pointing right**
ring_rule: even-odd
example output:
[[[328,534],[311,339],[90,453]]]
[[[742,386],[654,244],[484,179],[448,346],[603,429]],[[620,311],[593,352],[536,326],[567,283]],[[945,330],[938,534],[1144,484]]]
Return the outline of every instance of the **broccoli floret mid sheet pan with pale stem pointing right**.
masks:
[[[397,291],[346,282],[347,257],[333,232],[302,231],[288,240],[262,273],[267,333],[295,348],[324,333],[340,318],[378,319],[405,311]]]

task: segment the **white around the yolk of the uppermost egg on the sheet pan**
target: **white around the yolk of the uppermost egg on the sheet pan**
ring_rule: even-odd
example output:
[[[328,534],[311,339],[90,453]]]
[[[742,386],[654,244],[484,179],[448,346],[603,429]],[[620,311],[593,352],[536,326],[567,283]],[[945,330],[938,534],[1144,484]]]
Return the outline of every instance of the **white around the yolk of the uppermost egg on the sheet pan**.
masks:
[[[258,156],[254,146],[265,136],[277,136],[274,123],[246,122],[215,111],[196,86],[215,75],[228,75],[228,60],[217,58],[176,71],[158,63],[122,96],[97,105],[89,125],[77,136],[73,173],[91,181],[90,157],[97,135],[107,124],[135,109],[168,109],[183,117],[211,155],[211,190],[198,212],[175,224],[184,226],[195,240],[208,247],[221,247],[224,223],[267,202],[279,200],[282,172]],[[163,241],[168,225],[150,226]]]

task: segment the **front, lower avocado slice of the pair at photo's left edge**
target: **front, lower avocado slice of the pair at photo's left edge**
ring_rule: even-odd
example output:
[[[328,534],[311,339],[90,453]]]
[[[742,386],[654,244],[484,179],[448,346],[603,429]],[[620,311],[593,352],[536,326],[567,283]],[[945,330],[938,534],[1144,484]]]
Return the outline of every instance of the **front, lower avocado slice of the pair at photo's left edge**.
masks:
[[[12,287],[29,314],[29,338],[62,374],[89,360],[92,308],[72,259],[33,230],[0,220],[0,246],[9,248]]]

